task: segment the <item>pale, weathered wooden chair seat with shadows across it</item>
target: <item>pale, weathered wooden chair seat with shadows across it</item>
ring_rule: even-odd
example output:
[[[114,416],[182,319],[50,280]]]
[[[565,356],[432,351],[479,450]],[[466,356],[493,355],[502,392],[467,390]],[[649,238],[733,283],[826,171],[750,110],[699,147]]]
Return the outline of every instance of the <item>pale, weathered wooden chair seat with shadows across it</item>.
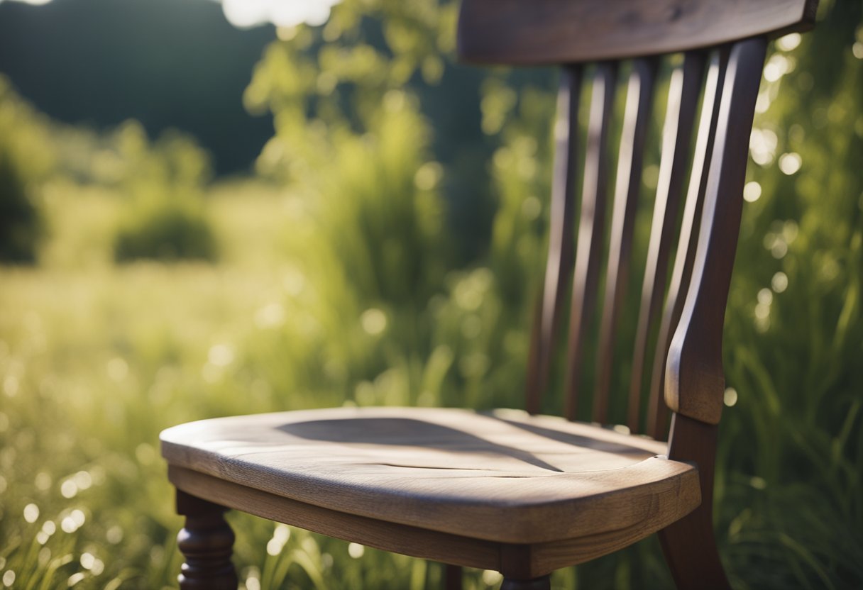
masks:
[[[701,501],[697,468],[666,459],[664,442],[522,411],[291,411],[161,441],[172,468],[268,498],[499,543],[646,536]]]

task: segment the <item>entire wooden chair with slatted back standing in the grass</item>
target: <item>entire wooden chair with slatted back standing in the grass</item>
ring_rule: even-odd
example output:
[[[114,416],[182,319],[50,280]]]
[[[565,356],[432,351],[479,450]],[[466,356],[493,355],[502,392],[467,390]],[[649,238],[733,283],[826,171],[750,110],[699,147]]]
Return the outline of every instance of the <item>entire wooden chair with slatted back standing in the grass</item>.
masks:
[[[234,536],[223,518],[228,508],[379,549],[494,569],[511,590],[549,588],[553,570],[658,531],[678,587],[728,587],[711,507],[724,392],[722,323],[749,135],[768,37],[807,28],[815,8],[815,0],[463,0],[464,59],[564,65],[528,411],[338,408],[217,418],[165,430],[162,453],[178,511],[186,515],[180,587],[236,588]],[[627,392],[629,430],[645,431],[652,436],[647,438],[598,424],[608,422],[614,336],[633,259],[659,56],[676,52],[684,52],[683,60],[671,74]],[[618,62],[625,59],[632,61],[600,281],[610,119]],[[576,115],[588,84],[575,232]],[[583,402],[583,351],[604,285],[592,407],[597,424],[536,415],[570,274],[564,387],[570,420]],[[642,410],[648,336],[657,331]],[[667,443],[661,442],[669,432],[664,404],[672,413]],[[450,574],[450,587],[458,587],[459,570]]]

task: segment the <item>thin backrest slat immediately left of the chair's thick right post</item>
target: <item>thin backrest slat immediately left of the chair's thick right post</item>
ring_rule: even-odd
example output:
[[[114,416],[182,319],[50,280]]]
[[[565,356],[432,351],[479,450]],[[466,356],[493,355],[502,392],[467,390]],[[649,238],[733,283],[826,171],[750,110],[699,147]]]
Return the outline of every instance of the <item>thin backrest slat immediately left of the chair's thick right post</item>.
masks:
[[[683,300],[689,287],[692,265],[695,262],[695,244],[693,236],[697,235],[699,220],[704,203],[704,192],[707,191],[707,168],[713,154],[713,143],[716,135],[716,125],[719,118],[720,94],[725,80],[725,68],[728,65],[728,51],[715,50],[710,56],[709,71],[704,85],[701,121],[698,125],[698,137],[695,153],[692,158],[690,186],[683,206],[683,219],[677,240],[677,254],[674,270],[671,273],[671,284],[665,298],[665,311],[659,324],[656,349],[653,356],[650,397],[647,405],[647,434],[653,438],[667,437],[668,408],[665,405],[665,361],[668,358],[668,348],[671,346],[671,336],[677,330],[677,322],[683,311]]]

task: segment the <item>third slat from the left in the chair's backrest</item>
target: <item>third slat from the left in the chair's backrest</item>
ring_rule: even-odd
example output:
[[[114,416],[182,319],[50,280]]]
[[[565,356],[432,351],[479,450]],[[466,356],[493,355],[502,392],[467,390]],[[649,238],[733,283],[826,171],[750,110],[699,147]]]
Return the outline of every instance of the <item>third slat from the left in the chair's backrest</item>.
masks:
[[[596,359],[593,419],[608,423],[608,394],[614,361],[614,330],[620,315],[620,305],[627,288],[629,260],[633,250],[635,210],[641,189],[641,166],[644,145],[653,105],[653,85],[658,61],[652,58],[634,60],[627,89],[627,108],[620,135],[620,157],[614,182],[614,210],[608,248],[608,272],[605,298],[602,303],[602,323]]]

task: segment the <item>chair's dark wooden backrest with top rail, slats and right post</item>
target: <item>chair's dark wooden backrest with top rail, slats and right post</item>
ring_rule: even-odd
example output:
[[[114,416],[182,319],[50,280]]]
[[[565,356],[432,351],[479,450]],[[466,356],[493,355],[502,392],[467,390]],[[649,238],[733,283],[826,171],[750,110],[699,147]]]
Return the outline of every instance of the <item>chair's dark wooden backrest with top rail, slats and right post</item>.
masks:
[[[584,352],[594,336],[590,324],[602,282],[592,419],[608,423],[612,372],[618,366],[612,362],[614,340],[632,270],[633,229],[659,65],[664,55],[683,53],[672,69],[665,105],[649,246],[646,256],[637,260],[645,265],[638,328],[632,356],[620,366],[631,367],[629,391],[624,394],[627,426],[633,432],[665,438],[669,409],[704,424],[719,422],[725,389],[722,323],[765,48],[772,36],[809,28],[816,4],[817,0],[463,0],[458,30],[463,60],[563,67],[549,252],[532,339],[528,411],[539,411],[548,386],[553,348],[564,336],[558,334],[558,326],[566,317],[565,299],[570,294],[564,414],[576,417],[583,401]],[[609,135],[621,63],[628,66],[629,79],[607,223],[608,168],[614,161],[608,152],[609,145],[617,143]],[[576,216],[582,152],[579,100],[587,85],[589,116]],[[652,362],[647,358],[650,350],[655,351]],[[646,388],[642,384],[647,365],[652,367]]]

